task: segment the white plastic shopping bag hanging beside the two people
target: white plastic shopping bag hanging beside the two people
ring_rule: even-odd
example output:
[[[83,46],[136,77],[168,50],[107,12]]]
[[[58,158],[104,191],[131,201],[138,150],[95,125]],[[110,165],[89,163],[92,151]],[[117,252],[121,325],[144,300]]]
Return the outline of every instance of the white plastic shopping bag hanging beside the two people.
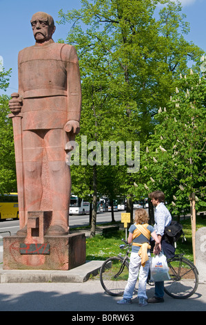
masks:
[[[150,273],[151,280],[154,282],[158,281],[166,281],[169,280],[169,268],[167,266],[167,259],[165,255],[158,254],[156,257],[152,257],[152,261],[150,263]]]

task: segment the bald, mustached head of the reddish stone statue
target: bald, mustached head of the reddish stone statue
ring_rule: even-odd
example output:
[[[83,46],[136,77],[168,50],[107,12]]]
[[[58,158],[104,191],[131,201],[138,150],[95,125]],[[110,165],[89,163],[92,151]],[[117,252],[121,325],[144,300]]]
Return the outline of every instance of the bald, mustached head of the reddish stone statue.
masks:
[[[43,43],[52,39],[56,27],[54,19],[46,12],[37,12],[31,19],[34,38],[37,43]]]

